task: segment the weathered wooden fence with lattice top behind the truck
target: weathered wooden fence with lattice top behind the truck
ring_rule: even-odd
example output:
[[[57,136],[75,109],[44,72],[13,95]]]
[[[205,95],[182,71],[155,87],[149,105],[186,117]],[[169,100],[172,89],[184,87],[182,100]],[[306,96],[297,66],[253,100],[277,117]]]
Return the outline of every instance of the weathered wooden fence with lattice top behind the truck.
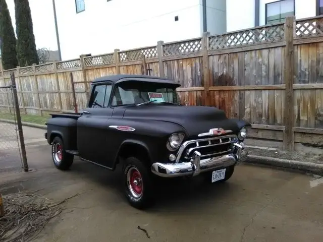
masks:
[[[179,82],[183,102],[211,105],[231,118],[251,122],[250,136],[323,145],[323,16],[65,62],[2,72],[7,85],[14,71],[24,113],[73,111],[72,84],[112,74],[164,76]],[[75,84],[79,110],[89,83]],[[0,108],[11,111],[8,93]]]

